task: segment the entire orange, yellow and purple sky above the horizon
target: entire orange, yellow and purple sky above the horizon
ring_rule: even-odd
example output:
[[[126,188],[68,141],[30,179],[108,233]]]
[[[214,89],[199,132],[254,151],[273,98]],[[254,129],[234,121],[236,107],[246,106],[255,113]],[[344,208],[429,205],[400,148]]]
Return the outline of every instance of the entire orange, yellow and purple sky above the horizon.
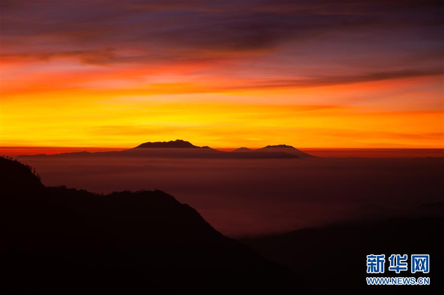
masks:
[[[443,3],[1,0],[0,145],[443,148]]]

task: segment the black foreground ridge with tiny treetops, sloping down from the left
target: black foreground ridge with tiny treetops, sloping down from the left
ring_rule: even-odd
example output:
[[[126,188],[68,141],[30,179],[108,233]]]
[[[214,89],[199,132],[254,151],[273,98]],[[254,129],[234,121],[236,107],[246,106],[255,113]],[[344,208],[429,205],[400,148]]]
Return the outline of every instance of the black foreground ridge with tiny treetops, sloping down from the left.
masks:
[[[279,294],[297,286],[285,268],[161,191],[44,187],[19,162],[0,158],[0,166],[3,294]]]

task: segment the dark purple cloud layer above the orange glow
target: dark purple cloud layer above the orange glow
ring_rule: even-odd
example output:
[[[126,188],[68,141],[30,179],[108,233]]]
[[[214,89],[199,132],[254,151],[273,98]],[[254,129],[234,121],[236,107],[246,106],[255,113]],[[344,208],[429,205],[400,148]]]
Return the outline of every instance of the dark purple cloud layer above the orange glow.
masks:
[[[273,71],[293,79],[315,77],[312,82],[321,84],[326,75],[337,83],[344,76],[348,83],[355,74],[442,72],[440,1],[3,0],[1,5],[6,61],[72,57],[103,66],[222,61],[212,70],[242,78],[235,66],[241,59],[251,70],[262,70],[262,78]]]

